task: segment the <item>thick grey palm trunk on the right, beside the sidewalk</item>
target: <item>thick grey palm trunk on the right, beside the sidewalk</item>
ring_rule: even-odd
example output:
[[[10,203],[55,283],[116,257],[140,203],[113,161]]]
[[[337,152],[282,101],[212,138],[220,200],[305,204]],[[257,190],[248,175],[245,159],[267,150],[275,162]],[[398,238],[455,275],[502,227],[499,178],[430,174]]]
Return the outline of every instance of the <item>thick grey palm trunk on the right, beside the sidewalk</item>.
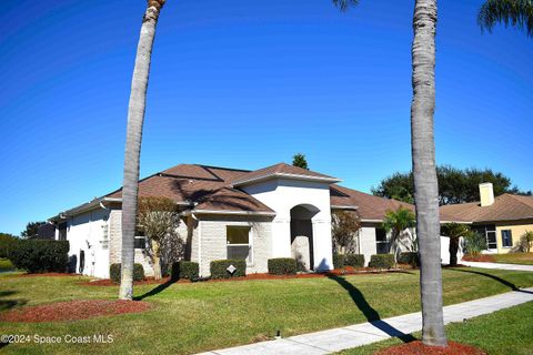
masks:
[[[436,0],[415,0],[411,145],[420,246],[422,342],[446,346],[442,314],[439,191],[435,171],[433,113],[435,109]]]

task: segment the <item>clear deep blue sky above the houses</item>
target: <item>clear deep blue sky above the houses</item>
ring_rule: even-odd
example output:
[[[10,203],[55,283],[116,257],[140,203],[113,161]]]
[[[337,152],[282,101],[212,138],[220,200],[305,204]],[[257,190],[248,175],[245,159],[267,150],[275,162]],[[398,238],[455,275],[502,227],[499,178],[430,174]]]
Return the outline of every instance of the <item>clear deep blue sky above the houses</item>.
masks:
[[[533,41],[482,34],[482,1],[439,1],[440,164],[533,189]],[[141,175],[179,163],[290,162],[362,191],[410,170],[414,1],[341,13],[329,0],[168,0],[158,27]],[[3,0],[0,231],[18,234],[121,184],[145,1]]]

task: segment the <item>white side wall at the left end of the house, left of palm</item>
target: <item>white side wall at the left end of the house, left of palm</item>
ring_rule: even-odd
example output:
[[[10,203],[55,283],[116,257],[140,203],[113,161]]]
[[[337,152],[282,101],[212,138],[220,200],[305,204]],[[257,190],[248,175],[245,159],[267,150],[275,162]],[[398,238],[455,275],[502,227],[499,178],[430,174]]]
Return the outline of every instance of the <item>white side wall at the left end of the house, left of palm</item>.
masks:
[[[80,272],[80,251],[84,252],[83,275],[109,277],[109,210],[93,210],[67,221],[69,260],[76,257]]]

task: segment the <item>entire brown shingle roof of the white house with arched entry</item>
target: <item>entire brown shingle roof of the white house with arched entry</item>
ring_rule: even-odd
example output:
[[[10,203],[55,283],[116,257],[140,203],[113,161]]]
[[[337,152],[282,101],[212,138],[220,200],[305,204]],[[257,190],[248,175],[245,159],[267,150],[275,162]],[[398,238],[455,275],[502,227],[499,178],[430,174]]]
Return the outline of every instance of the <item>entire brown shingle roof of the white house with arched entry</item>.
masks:
[[[180,164],[140,180],[139,196],[165,196],[181,204],[184,210],[195,213],[274,215],[273,210],[239,186],[276,178],[328,183],[332,209],[356,210],[362,220],[381,221],[386,211],[399,206],[414,210],[411,204],[343,187],[333,184],[339,179],[285,163],[255,171]],[[58,217],[76,215],[103,202],[119,203],[121,199],[122,189],[119,189],[59,214]]]

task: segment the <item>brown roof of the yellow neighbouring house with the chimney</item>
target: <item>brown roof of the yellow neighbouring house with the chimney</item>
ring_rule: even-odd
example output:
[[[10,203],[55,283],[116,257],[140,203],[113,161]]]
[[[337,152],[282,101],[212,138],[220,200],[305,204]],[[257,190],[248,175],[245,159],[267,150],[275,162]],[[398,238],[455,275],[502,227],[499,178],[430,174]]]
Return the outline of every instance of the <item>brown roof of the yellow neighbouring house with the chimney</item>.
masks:
[[[450,204],[441,206],[442,213],[449,221],[473,223],[530,220],[533,219],[533,196],[505,193],[496,196],[490,206],[482,207],[479,202]]]

